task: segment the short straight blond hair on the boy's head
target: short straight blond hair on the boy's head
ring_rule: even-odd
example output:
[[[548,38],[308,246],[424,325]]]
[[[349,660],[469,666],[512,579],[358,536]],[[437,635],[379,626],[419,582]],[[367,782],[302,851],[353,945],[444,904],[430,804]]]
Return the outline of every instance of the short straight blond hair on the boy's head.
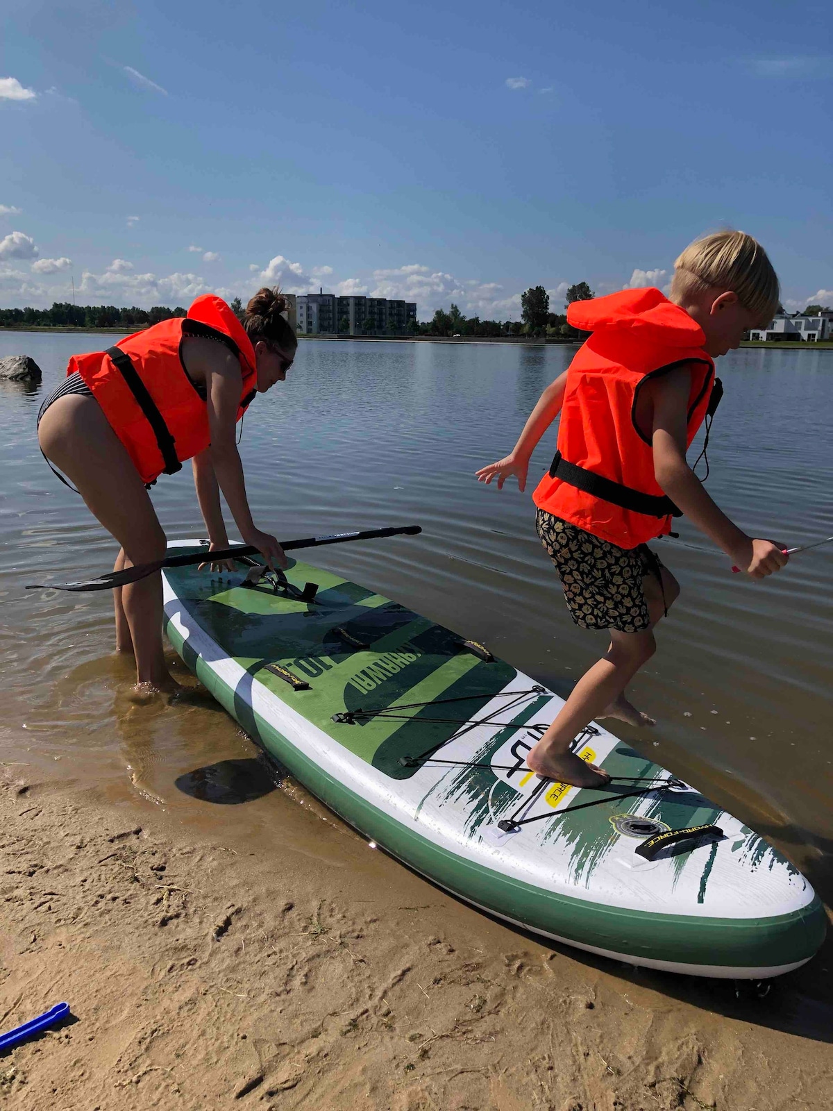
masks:
[[[766,251],[745,231],[715,231],[690,243],[674,263],[671,298],[731,289],[762,322],[777,311],[777,274]]]

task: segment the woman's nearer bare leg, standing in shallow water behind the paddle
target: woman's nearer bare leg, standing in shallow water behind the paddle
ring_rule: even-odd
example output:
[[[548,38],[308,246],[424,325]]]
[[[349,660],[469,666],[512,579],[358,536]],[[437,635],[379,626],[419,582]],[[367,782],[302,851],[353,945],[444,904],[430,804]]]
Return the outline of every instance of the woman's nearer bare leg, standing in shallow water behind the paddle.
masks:
[[[76,483],[90,512],[121,544],[124,567],[164,557],[164,533],[148,491],[94,398],[71,394],[54,401],[41,418],[39,440],[44,456]],[[161,574],[123,587],[120,602],[137,682],[170,684],[162,651]]]

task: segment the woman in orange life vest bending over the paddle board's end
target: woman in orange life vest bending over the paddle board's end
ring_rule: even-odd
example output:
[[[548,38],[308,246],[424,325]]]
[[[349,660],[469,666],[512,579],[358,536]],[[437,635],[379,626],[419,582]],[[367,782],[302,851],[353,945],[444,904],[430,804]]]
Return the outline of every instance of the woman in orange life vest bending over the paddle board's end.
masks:
[[[287,300],[261,289],[238,320],[219,297],[198,298],[188,316],[128,336],[108,351],[73,356],[68,378],[38,418],[41,451],[76,483],[94,517],[121,544],[116,570],[163,559],[165,537],[148,496],[161,473],[192,460],[211,541],[228,547],[220,490],[243,542],[272,567],[287,560],[254,527],[235,444],[235,424],[255,392],[282,382],[298,341],[281,316]],[[116,649],[133,652],[138,690],[175,685],[162,650],[160,573],[114,590]]]

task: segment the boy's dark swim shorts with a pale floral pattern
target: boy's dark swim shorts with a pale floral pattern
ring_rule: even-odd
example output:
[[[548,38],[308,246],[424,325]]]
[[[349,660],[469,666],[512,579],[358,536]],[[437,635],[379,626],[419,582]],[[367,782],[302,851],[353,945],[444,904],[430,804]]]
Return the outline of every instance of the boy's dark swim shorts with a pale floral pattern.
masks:
[[[535,528],[555,564],[573,621],[582,629],[644,632],[651,624],[642,580],[662,567],[648,548],[619,548],[539,509]]]

